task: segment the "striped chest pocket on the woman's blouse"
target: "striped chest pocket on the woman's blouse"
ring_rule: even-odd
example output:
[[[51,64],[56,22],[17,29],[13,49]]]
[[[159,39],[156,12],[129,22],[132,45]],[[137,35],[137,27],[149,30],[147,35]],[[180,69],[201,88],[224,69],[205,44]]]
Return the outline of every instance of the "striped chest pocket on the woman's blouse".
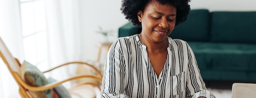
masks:
[[[171,77],[171,95],[179,95],[185,90],[186,77],[184,73],[185,72],[182,72]]]

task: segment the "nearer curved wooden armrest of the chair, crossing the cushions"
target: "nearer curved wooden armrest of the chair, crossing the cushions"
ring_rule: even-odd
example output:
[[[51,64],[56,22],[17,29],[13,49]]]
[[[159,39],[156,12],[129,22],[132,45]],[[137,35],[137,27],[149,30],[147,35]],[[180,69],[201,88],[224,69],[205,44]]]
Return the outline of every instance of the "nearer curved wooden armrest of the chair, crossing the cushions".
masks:
[[[47,85],[44,85],[44,86],[41,86],[41,87],[33,87],[33,86],[30,86],[28,84],[26,84],[26,82],[23,81],[23,79],[21,79],[19,73],[17,72],[14,72],[14,75],[15,77],[17,77],[17,81],[19,81],[19,83],[21,85],[23,85],[24,88],[26,88],[27,90],[31,90],[31,91],[44,91],[44,90],[48,90],[50,88],[53,88],[53,87],[56,87],[64,82],[68,82],[70,80],[74,80],[74,79],[80,79],[80,78],[93,78],[93,79],[96,79],[97,81],[99,82],[102,82],[102,78],[100,77],[97,77],[97,76],[93,76],[93,75],[76,75],[76,76],[72,76],[68,79],[64,79],[62,81],[58,81],[58,82],[53,82],[51,84],[47,84]]]

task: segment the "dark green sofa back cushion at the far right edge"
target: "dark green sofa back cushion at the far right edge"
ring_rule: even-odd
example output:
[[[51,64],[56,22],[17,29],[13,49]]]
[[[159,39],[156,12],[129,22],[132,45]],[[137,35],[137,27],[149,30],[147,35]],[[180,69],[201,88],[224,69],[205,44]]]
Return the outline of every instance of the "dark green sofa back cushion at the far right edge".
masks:
[[[215,11],[211,18],[212,41],[256,43],[256,11]]]

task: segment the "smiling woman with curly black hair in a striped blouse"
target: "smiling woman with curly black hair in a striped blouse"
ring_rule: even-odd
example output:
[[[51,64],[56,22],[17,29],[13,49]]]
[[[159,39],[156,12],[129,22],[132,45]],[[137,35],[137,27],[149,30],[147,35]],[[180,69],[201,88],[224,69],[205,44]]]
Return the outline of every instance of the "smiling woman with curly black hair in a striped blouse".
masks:
[[[215,98],[201,78],[195,56],[169,38],[186,20],[189,0],[123,0],[122,13],[140,34],[118,38],[108,52],[102,98]]]

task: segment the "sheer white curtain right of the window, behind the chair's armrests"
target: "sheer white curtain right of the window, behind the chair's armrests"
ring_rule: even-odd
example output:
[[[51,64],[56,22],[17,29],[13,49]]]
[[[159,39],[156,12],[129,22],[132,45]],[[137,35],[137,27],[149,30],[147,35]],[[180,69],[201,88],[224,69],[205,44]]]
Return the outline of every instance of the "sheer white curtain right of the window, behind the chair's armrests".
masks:
[[[81,60],[78,0],[45,1],[51,65]],[[75,66],[69,66],[52,76],[59,79],[67,78],[75,74],[75,70]]]

